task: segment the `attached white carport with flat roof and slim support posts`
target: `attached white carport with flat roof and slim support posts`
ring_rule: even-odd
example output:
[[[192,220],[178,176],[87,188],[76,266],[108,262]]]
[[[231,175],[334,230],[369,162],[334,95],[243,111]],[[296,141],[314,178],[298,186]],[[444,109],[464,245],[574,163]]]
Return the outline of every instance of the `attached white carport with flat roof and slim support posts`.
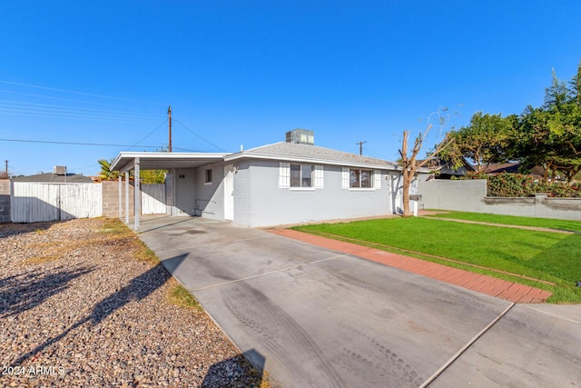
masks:
[[[122,152],[113,160],[111,171],[119,172],[119,218],[123,218],[122,192],[123,174],[125,175],[125,224],[129,224],[129,173],[133,170],[135,182],[134,229],[139,231],[141,214],[140,172],[142,170],[169,170],[175,176],[175,170],[180,168],[197,168],[207,164],[219,163],[227,154],[219,153],[149,153],[149,152]],[[175,193],[176,180],[172,180]],[[172,204],[175,205],[175,198]]]

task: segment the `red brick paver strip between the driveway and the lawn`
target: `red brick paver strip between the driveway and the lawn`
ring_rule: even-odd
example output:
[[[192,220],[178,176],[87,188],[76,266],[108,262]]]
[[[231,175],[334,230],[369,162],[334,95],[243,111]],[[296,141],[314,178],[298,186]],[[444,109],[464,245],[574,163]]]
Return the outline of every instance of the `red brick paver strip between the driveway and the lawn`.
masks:
[[[376,263],[386,264],[413,274],[420,274],[440,282],[458,285],[478,293],[486,293],[508,302],[543,303],[552,293],[524,284],[507,282],[484,274],[474,274],[458,268],[431,263],[402,254],[393,254],[379,249],[358,244],[332,240],[291,229],[271,229],[271,234],[278,234],[304,243],[332,249],[344,254],[352,254]]]

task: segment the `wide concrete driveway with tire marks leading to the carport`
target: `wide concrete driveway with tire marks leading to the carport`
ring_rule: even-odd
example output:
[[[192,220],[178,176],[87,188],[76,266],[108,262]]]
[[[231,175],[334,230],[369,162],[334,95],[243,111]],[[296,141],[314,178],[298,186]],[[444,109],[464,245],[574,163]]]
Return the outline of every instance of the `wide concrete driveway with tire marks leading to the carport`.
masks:
[[[142,227],[162,264],[284,387],[581,384],[581,305],[513,305],[202,218]]]

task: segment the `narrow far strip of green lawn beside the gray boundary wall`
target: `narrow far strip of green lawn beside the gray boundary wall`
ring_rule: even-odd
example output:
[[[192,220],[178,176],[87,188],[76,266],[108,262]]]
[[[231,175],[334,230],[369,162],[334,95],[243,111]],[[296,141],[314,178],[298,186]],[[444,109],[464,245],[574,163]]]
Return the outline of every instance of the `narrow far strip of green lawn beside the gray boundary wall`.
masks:
[[[428,216],[438,218],[453,218],[455,220],[479,221],[494,224],[536,226],[540,228],[581,233],[581,221],[566,221],[566,220],[556,220],[553,218],[529,218],[529,217],[517,217],[514,215],[481,214],[465,212],[449,212],[446,214],[433,214]]]

